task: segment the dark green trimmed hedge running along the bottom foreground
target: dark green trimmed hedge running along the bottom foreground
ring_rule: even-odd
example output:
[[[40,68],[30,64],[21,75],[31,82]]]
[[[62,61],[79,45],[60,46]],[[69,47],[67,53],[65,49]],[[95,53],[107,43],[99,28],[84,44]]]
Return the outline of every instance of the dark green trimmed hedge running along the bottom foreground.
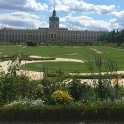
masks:
[[[124,102],[123,102],[124,103]],[[1,108],[1,121],[80,122],[83,120],[124,120],[124,104],[90,103],[45,105],[40,109]]]

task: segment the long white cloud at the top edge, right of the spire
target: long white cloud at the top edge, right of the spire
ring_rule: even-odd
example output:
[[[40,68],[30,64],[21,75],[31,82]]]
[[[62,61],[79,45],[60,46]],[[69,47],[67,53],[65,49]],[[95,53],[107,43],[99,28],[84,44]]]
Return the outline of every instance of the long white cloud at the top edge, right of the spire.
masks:
[[[84,2],[83,0],[50,0],[52,4],[56,4],[58,11],[82,11],[96,12],[98,14],[108,14],[115,9],[115,5],[95,5]]]

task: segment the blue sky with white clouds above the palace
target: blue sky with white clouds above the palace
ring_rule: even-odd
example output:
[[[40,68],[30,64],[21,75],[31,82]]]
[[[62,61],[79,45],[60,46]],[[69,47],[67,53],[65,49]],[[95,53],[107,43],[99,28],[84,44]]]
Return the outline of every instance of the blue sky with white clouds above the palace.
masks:
[[[124,28],[124,0],[0,0],[0,27],[48,28],[54,6],[61,28]]]

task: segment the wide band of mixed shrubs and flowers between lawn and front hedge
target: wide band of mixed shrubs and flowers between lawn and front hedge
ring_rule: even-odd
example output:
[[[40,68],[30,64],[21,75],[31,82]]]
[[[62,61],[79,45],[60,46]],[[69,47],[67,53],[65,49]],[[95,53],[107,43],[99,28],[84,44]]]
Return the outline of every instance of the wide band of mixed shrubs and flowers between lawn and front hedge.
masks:
[[[39,81],[29,80],[25,75],[18,76],[17,71],[20,69],[21,55],[17,56],[15,61],[12,61],[11,66],[8,69],[8,73],[0,73],[0,102],[12,102],[15,100],[29,99],[37,100],[41,99],[44,104],[67,104],[72,102],[89,103],[97,100],[119,100],[124,97],[124,88],[118,84],[118,75],[116,71],[118,69],[117,62],[108,59],[103,61],[102,57],[96,57],[95,63],[88,63],[89,71],[93,71],[94,65],[99,71],[98,75],[80,75],[70,76],[66,75],[60,68],[54,72],[54,76],[49,76],[49,70],[47,66],[44,66],[44,78]],[[105,67],[107,73],[102,75],[102,67]],[[108,73],[110,71],[110,73]],[[51,73],[52,74],[52,73]],[[87,82],[81,83],[80,78],[95,78],[98,82],[95,85],[88,85]],[[116,79],[115,85],[111,84],[111,79]],[[72,79],[71,82],[70,79]],[[70,95],[69,95],[70,93]],[[14,102],[15,107],[27,108],[29,102],[21,104],[20,101]]]

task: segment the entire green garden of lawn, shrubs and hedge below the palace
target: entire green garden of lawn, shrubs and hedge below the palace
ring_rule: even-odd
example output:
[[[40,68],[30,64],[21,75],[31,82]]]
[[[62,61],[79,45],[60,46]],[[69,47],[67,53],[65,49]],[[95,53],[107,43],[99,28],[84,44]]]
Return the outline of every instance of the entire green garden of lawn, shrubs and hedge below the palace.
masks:
[[[123,74],[117,73],[118,70],[123,70],[123,49],[105,46],[92,48],[95,50],[89,46],[1,46],[1,61],[3,61],[2,57],[15,55],[16,57],[12,60],[7,73],[4,71],[0,73],[0,119],[53,122],[87,119],[123,120],[124,88],[118,83],[118,80],[123,78]],[[98,51],[101,53],[99,54]],[[38,63],[27,64],[26,69],[44,72],[42,79],[31,80],[25,75],[17,75],[22,69],[20,63],[23,57],[27,56],[24,59],[26,60],[30,55],[78,59],[84,63],[40,62],[40,66]],[[13,66],[14,62],[16,64]],[[49,63],[54,63],[56,66]],[[58,63],[60,65],[57,65]],[[106,74],[103,75],[102,71]],[[98,81],[93,85],[87,82],[81,83],[81,75],[70,76],[70,72],[77,74],[90,72],[91,75],[84,75],[83,78],[92,80],[97,72],[95,76]],[[114,83],[111,82],[113,78],[116,79]],[[71,81],[67,81],[70,79]]]

